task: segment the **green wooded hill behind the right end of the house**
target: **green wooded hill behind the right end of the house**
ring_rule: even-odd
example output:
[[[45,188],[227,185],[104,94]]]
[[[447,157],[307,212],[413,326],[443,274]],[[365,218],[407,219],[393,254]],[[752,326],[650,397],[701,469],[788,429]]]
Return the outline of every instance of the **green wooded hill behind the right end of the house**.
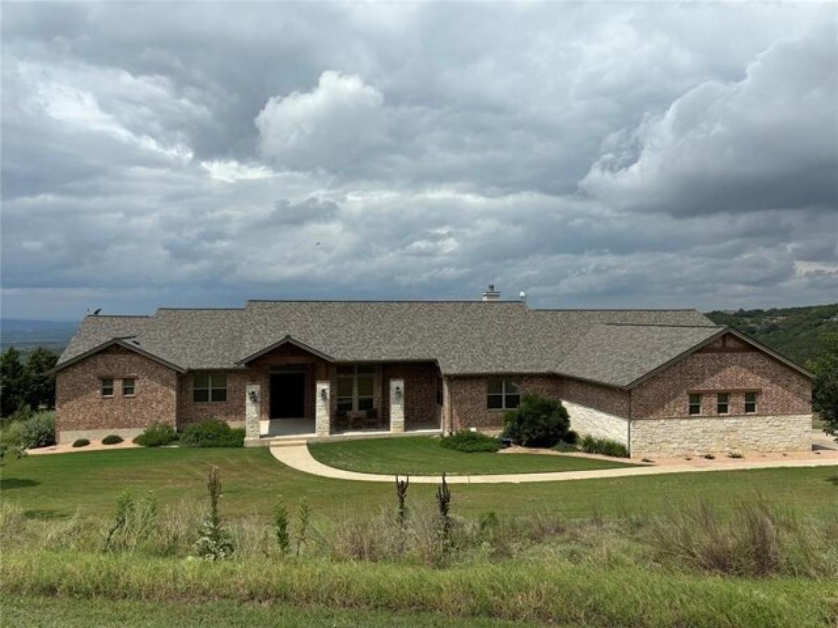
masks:
[[[747,333],[804,365],[820,351],[828,334],[838,333],[838,303],[772,310],[710,311],[706,316],[716,324]]]

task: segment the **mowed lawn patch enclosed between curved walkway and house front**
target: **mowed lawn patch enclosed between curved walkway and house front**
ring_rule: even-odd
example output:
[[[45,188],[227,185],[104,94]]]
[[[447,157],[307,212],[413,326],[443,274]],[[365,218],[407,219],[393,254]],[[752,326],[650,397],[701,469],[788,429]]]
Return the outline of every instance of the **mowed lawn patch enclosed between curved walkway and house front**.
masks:
[[[449,450],[431,436],[345,440],[308,445],[312,456],[324,465],[345,471],[432,476],[497,475],[546,471],[589,471],[634,466],[620,462],[590,460],[574,456],[506,454]]]

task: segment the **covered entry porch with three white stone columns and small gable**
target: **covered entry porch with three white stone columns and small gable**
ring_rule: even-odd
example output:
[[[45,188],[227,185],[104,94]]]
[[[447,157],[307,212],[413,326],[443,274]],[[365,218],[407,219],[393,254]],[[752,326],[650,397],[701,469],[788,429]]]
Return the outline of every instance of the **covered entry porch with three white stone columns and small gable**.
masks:
[[[242,365],[246,445],[441,429],[435,362],[339,362],[288,337]]]

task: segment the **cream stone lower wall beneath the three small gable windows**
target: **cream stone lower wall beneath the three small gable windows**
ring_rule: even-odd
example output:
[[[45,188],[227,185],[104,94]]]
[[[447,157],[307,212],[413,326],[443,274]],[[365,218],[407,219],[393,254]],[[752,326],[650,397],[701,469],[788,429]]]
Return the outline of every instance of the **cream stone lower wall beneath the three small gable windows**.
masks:
[[[633,420],[632,457],[688,456],[736,451],[812,448],[812,415]]]

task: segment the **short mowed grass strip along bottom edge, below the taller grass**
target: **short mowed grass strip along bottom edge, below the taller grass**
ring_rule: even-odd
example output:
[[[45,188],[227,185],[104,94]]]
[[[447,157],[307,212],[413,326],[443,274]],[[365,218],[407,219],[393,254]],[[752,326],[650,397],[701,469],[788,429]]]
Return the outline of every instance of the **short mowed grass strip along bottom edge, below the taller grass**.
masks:
[[[351,628],[368,626],[475,626],[476,628],[510,628],[530,625],[520,622],[473,617],[460,620],[430,613],[396,613],[386,610],[329,609],[323,606],[297,607],[288,604],[261,602],[215,601],[131,601],[93,598],[75,600],[67,597],[0,595],[6,625],[61,626],[126,626],[158,628],[163,625],[200,625],[204,628],[227,626],[328,626]],[[535,625],[535,624],[533,624]]]

